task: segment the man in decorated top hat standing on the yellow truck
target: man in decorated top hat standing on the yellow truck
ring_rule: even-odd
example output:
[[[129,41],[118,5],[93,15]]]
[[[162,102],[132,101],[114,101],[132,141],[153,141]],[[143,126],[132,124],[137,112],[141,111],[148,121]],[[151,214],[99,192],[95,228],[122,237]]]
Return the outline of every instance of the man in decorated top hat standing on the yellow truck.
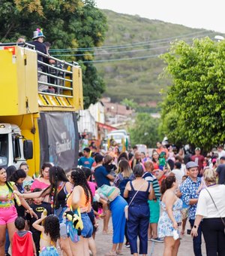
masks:
[[[45,36],[43,35],[42,29],[37,29],[34,31],[34,36],[32,38],[33,41],[28,42],[28,44],[34,45],[35,50],[40,51],[40,53],[47,54],[46,45],[43,44],[44,38]],[[49,62],[49,60],[46,57],[41,56],[40,54],[37,54],[37,60],[41,62],[46,62],[46,63]],[[46,66],[43,66],[42,64],[37,63],[37,71],[46,72]],[[48,81],[47,76],[40,73],[37,73],[37,79],[38,81],[43,83],[47,83]],[[38,90],[41,92],[49,93],[49,87],[46,84],[38,84]]]

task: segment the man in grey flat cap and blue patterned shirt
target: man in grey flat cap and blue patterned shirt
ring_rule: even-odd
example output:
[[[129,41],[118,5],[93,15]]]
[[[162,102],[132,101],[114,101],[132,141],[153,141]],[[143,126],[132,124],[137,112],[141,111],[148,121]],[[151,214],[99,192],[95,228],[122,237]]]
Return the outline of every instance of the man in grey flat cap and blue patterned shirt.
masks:
[[[186,168],[189,172],[189,177],[181,184],[180,191],[182,199],[187,206],[190,206],[188,210],[188,218],[190,227],[194,227],[194,220],[196,214],[196,206],[199,200],[198,188],[201,184],[201,178],[198,177],[199,166],[190,161],[187,163]],[[202,256],[202,224],[198,227],[198,236],[193,237],[193,252],[195,256]]]

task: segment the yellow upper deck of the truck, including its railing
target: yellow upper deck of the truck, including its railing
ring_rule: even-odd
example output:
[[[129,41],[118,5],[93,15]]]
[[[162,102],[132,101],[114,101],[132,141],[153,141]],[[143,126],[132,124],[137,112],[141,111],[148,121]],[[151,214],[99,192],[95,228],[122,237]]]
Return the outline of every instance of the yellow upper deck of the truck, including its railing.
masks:
[[[77,62],[56,59],[29,43],[0,44],[0,55],[4,78],[0,83],[1,102],[13,102],[2,114],[83,109],[82,70]]]

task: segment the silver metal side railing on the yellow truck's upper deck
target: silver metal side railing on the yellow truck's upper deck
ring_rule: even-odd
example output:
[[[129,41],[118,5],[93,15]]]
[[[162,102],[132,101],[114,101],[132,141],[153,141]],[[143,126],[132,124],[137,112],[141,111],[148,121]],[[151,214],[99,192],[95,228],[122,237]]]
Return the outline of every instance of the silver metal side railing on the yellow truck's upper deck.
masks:
[[[25,47],[29,47],[35,50],[35,46],[32,44],[25,43]],[[71,102],[70,99],[74,99],[74,66],[80,69],[79,63],[77,62],[66,62],[65,60],[56,59],[48,54],[41,53],[37,50],[37,56],[42,56],[47,62],[40,61],[37,58],[37,66],[43,69],[37,69],[37,84],[39,94],[39,105],[48,106],[64,106],[69,107]],[[49,61],[53,62],[50,63]],[[79,75],[76,73],[76,75]],[[43,78],[45,77],[43,81]],[[78,79],[79,80],[79,79]],[[39,90],[39,87],[44,85],[48,87],[46,90]],[[77,92],[77,90],[75,90]],[[76,95],[80,97],[80,95]],[[83,98],[83,96],[82,96]],[[82,105],[83,105],[83,99]],[[82,107],[83,108],[83,107]]]

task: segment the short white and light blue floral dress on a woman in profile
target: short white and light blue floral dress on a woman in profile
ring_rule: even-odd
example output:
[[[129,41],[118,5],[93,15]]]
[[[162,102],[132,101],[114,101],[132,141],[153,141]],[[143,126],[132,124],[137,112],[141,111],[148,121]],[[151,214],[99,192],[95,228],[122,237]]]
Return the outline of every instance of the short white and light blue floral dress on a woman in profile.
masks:
[[[172,206],[172,214],[177,223],[181,222],[181,209],[182,209],[182,200],[178,198]],[[165,236],[173,236],[172,235],[172,221],[169,218],[169,215],[166,212],[165,203],[161,202],[161,206],[163,209],[162,215],[158,221],[157,233],[158,237],[163,238]]]

